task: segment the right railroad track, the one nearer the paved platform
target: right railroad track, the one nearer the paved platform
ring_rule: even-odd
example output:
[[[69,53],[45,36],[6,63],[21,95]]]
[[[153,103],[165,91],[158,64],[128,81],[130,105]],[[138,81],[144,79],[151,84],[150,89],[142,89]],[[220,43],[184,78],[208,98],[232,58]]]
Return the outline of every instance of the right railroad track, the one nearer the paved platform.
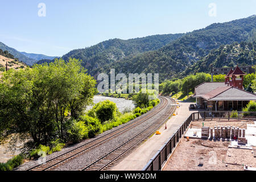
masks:
[[[136,147],[139,146],[144,140],[150,137],[155,133],[159,127],[163,125],[164,122],[170,117],[171,114],[174,113],[176,106],[168,106],[168,112],[163,114],[155,123],[151,126],[147,127],[147,129],[143,130],[141,133],[135,135],[133,138],[128,140],[126,143],[121,146],[115,148],[102,158],[96,160],[89,166],[86,166],[81,169],[81,171],[105,171],[109,168],[112,168],[116,163],[125,158],[131,151],[133,151]],[[172,109],[171,109],[172,107]]]

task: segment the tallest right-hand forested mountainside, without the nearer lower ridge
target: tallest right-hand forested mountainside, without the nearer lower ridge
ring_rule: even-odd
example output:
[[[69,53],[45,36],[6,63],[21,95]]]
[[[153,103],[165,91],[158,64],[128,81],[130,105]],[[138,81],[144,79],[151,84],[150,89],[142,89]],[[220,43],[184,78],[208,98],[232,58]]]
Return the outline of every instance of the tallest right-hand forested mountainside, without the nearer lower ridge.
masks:
[[[255,15],[227,23],[214,23],[189,32],[156,51],[126,56],[122,60],[92,71],[92,74],[109,72],[110,68],[115,68],[116,72],[123,73],[159,73],[160,81],[178,77],[185,69],[204,59],[212,49],[249,40],[255,31],[254,28]]]

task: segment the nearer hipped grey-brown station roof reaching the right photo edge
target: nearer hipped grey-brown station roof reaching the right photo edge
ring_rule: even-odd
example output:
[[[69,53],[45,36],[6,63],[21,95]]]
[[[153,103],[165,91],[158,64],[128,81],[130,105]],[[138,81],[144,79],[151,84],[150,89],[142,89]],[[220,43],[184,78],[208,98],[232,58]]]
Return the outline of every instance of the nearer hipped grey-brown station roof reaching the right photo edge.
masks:
[[[208,101],[256,101],[256,95],[245,90],[236,88],[234,86],[226,86],[225,88],[218,88],[220,91],[208,93]],[[214,92],[216,92],[214,96]],[[205,96],[205,97],[207,97]]]

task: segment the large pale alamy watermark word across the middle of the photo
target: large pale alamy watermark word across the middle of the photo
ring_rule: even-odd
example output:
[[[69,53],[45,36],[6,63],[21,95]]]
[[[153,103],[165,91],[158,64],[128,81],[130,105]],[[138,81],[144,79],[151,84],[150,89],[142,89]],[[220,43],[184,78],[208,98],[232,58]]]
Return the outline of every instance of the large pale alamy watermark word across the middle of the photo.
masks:
[[[154,95],[159,94],[159,73],[154,73],[154,78],[152,73],[147,73],[147,75],[145,73],[141,73],[140,75],[138,73],[129,73],[127,79],[124,73],[115,75],[115,69],[110,69],[110,79],[106,73],[100,73],[97,80],[100,81],[97,87],[99,93],[130,94],[152,91]],[[149,97],[148,99],[154,98]]]

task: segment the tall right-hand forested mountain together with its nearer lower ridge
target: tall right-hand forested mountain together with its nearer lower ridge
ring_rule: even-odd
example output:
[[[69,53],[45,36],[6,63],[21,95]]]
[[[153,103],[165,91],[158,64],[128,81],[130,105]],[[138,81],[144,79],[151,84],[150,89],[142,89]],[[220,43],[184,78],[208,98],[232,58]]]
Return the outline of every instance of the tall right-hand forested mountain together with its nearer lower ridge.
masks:
[[[108,65],[101,64],[91,73],[109,73],[110,68],[122,73],[160,73],[159,81],[163,82],[199,72],[210,73],[211,65],[255,64],[255,42],[249,40],[250,33],[256,28],[255,21],[256,17],[250,16],[232,22],[214,23],[189,32],[158,50],[125,56]],[[250,43],[242,43],[246,41]]]

